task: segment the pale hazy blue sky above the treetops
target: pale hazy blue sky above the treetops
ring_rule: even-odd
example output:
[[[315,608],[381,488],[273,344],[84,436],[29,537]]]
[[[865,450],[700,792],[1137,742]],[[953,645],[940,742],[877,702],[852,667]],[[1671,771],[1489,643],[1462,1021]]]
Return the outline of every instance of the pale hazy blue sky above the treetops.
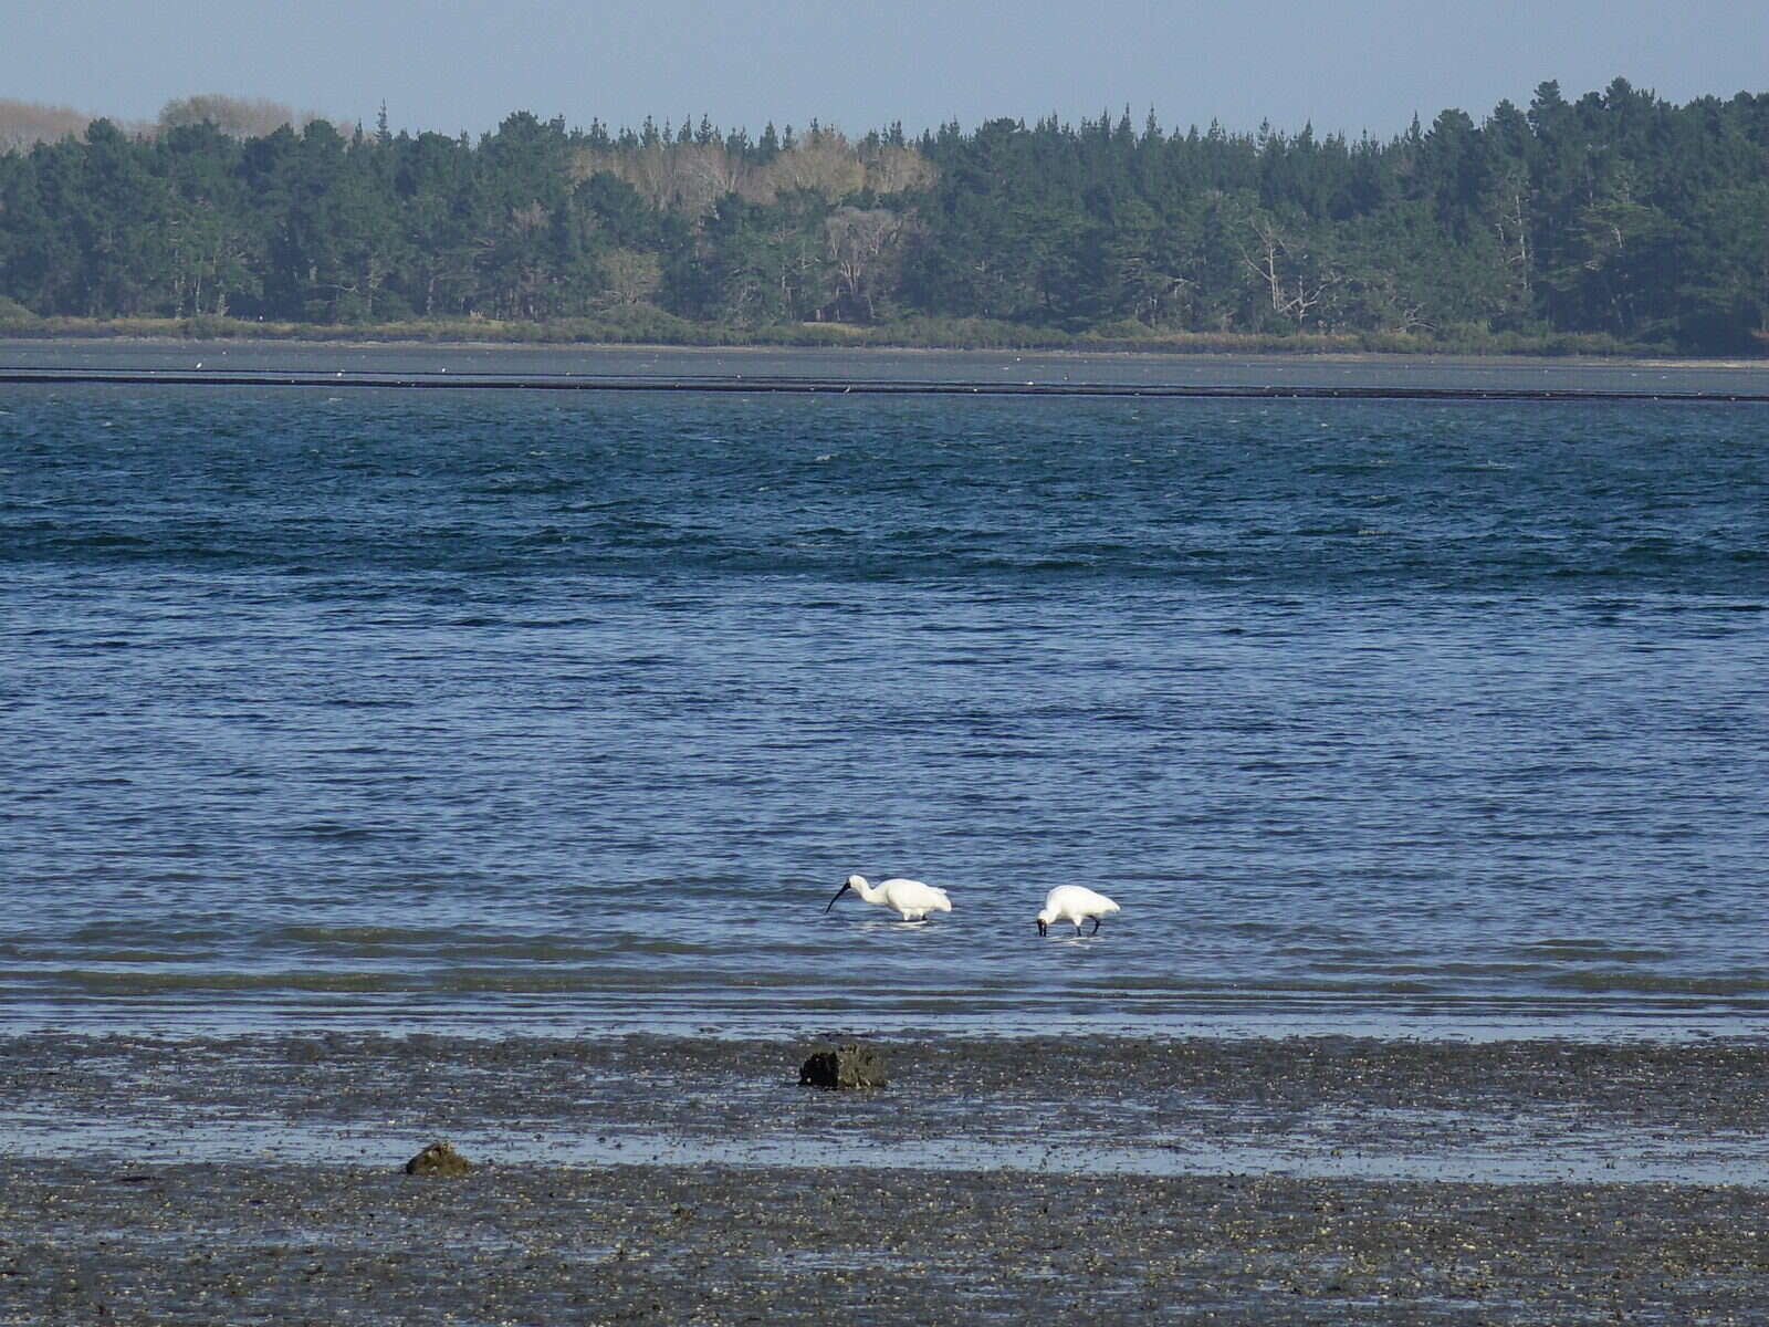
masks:
[[[1385,138],[1558,80],[1670,101],[1769,90],[1762,0],[37,0],[0,25],[0,97],[150,120],[198,92],[394,129],[509,111],[619,129],[709,115],[752,134],[994,117],[1261,120]]]

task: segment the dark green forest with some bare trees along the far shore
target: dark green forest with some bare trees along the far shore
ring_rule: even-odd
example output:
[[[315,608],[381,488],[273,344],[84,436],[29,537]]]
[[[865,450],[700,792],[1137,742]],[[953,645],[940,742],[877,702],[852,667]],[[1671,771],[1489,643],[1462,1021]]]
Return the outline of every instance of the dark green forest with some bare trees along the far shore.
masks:
[[[267,119],[193,97],[134,131],[16,131],[0,327],[1769,349],[1769,94],[1543,83],[1528,110],[1382,142],[1129,113],[860,140],[704,117],[610,133],[517,113],[478,142]]]

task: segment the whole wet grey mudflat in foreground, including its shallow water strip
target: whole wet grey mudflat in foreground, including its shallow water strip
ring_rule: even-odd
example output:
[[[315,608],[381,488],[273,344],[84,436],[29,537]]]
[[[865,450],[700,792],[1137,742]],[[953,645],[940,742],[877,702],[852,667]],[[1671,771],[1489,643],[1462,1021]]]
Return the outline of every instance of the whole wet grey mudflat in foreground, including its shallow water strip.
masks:
[[[1762,1042],[872,1044],[0,1039],[0,1322],[1765,1320]]]

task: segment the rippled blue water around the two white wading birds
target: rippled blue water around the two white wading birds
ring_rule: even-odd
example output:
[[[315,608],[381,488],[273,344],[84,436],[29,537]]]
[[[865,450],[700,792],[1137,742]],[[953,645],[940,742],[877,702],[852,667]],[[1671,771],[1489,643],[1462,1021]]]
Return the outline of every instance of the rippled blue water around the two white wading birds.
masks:
[[[7,1026],[1769,1014],[1764,407],[0,410]]]

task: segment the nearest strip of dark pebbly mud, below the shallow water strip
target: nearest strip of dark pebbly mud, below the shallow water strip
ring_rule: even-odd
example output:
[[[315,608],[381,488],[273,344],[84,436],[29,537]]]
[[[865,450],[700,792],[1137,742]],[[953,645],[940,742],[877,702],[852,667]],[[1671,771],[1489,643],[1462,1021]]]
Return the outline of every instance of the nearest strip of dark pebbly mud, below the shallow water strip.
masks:
[[[1764,1196],[0,1161],[0,1322],[1762,1322]]]

